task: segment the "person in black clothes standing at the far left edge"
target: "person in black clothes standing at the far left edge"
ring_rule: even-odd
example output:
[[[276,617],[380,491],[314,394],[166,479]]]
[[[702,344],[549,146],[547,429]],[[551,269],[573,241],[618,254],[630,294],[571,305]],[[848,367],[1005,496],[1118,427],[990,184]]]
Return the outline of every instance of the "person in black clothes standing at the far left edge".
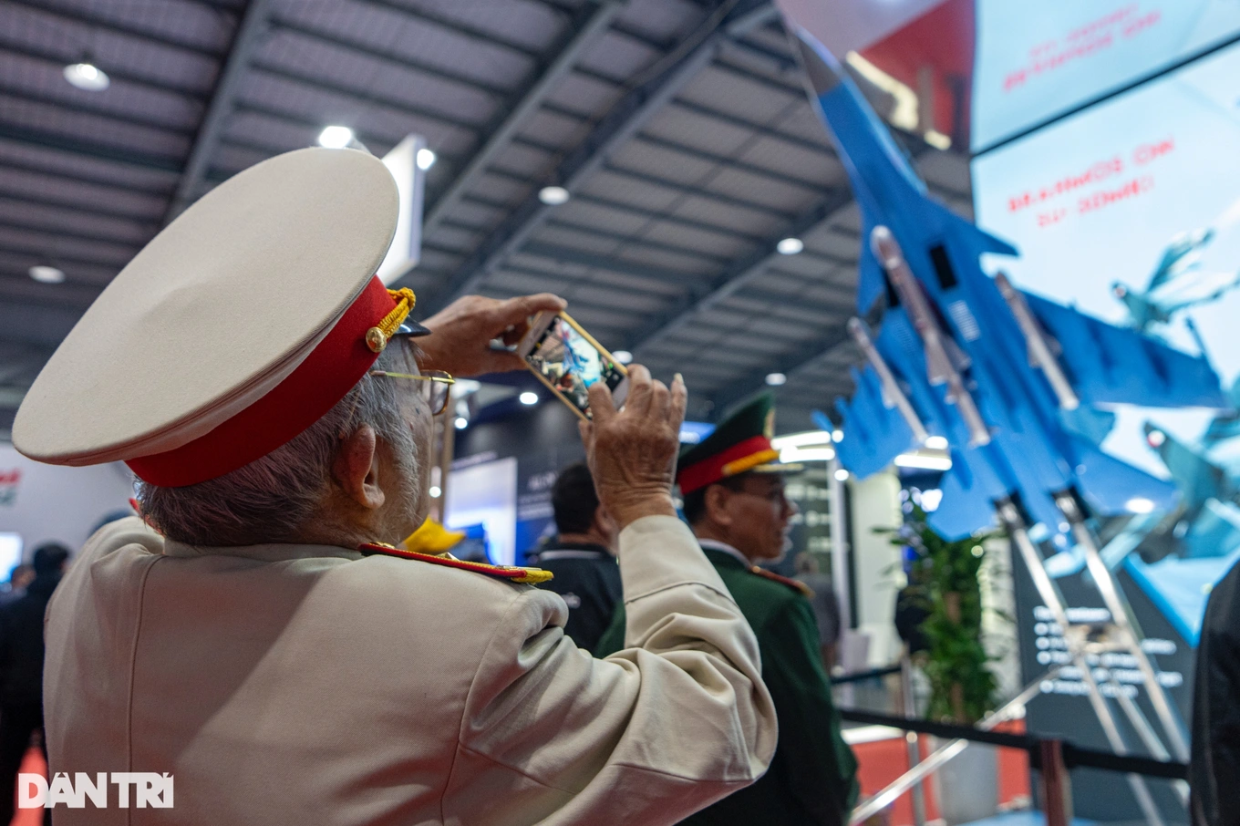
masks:
[[[12,820],[17,770],[38,732],[43,758],[43,614],[69,551],[50,542],[35,549],[35,578],[19,599],[0,606],[0,824]],[[43,810],[51,824],[51,809]]]

